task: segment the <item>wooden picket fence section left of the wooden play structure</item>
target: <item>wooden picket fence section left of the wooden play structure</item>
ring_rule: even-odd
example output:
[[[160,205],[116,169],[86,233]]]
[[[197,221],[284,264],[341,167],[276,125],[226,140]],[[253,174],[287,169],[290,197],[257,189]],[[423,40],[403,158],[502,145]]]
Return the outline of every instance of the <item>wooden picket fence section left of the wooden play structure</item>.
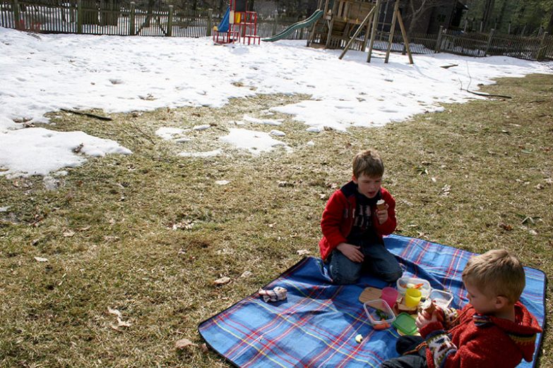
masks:
[[[165,37],[210,36],[222,14],[174,11],[173,6],[140,9],[114,8],[113,1],[102,0],[11,0],[0,1],[0,27],[42,33],[85,35],[141,35]],[[258,16],[258,35],[270,37],[297,18]],[[288,39],[306,39],[309,30],[292,32]]]

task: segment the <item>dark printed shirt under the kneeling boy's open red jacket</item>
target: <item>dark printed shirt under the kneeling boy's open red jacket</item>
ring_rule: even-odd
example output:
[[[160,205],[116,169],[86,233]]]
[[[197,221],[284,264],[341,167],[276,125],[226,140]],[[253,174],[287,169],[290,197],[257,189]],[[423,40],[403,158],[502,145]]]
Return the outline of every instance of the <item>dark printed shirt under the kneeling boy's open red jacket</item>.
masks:
[[[367,198],[359,192],[355,193],[357,205],[353,213],[352,231],[347,236],[349,243],[357,244],[359,240],[375,243],[378,240],[373,225],[375,214],[372,213],[372,209],[376,206],[376,197]]]

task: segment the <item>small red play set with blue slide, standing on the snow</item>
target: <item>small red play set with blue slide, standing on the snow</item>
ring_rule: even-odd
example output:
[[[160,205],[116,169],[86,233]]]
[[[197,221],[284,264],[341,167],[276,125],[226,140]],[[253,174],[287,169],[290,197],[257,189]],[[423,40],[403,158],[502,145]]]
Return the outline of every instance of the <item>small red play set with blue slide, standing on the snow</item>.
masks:
[[[257,35],[257,13],[247,9],[248,0],[230,0],[221,23],[218,27],[213,27],[213,42],[259,44],[261,37]]]

